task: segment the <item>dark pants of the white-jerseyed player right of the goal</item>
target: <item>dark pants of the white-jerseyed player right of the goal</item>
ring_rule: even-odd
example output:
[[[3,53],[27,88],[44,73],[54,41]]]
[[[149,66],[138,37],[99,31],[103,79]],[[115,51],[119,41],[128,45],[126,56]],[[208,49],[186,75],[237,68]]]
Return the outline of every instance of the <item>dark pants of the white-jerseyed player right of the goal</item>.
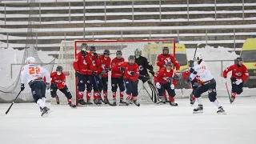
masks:
[[[210,81],[202,83],[201,86],[198,86],[198,88],[194,91],[194,97],[199,98],[201,97],[201,94],[206,92],[208,90],[208,98],[210,99],[210,102],[214,102],[216,100],[216,81],[211,79]]]

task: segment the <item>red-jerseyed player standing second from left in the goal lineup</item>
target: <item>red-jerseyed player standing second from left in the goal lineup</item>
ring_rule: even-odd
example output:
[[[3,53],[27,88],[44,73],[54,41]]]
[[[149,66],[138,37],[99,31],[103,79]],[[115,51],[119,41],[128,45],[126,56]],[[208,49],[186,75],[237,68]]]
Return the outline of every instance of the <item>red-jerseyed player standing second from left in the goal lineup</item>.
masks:
[[[98,74],[100,70],[100,62],[98,59],[98,54],[96,53],[96,47],[90,46],[90,59],[91,62],[89,63],[89,70],[88,70],[88,81],[87,81],[87,91],[86,91],[86,99],[87,104],[93,104],[90,102],[91,90],[94,88],[94,104],[100,105],[102,104],[102,98],[100,98],[98,86],[99,86],[99,79]]]

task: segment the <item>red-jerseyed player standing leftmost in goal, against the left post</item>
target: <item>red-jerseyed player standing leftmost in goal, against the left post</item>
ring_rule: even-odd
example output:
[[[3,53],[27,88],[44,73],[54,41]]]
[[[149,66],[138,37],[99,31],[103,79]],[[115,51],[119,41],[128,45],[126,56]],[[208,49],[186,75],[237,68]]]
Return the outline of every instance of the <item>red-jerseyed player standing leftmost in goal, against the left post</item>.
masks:
[[[77,77],[78,85],[78,103],[80,105],[86,105],[83,99],[84,91],[86,90],[86,82],[88,81],[88,70],[91,62],[90,53],[86,52],[88,46],[86,43],[82,44],[82,50],[77,54],[73,67],[75,70],[75,76]]]

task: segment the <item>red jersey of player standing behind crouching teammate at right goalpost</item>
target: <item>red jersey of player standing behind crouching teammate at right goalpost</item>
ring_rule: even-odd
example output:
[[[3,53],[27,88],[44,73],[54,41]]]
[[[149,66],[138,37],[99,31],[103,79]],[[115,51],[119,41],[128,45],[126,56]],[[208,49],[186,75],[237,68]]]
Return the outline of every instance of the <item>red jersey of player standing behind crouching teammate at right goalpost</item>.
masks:
[[[165,61],[168,61],[168,62],[172,62],[176,68],[176,70],[179,70],[180,69],[180,65],[179,65],[179,62],[176,60],[176,58],[174,58],[173,55],[171,54],[159,54],[158,55],[158,62],[157,62],[157,65],[159,66],[159,70],[164,67],[164,65],[166,64]]]

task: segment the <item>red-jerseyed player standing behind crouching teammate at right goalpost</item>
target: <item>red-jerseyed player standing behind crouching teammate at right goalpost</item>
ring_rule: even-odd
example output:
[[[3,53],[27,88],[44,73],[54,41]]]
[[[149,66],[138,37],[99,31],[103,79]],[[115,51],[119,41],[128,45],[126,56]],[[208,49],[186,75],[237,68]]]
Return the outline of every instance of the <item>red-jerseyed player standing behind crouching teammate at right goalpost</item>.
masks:
[[[174,58],[172,54],[169,54],[169,48],[167,46],[164,46],[162,49],[162,54],[158,55],[157,65],[159,66],[159,70],[161,70],[161,68],[165,66],[166,62],[171,62],[174,64],[174,67],[176,68],[175,74],[178,78],[180,78],[181,72],[179,62],[176,60],[176,58]],[[166,98],[166,93],[164,93],[164,97]]]

